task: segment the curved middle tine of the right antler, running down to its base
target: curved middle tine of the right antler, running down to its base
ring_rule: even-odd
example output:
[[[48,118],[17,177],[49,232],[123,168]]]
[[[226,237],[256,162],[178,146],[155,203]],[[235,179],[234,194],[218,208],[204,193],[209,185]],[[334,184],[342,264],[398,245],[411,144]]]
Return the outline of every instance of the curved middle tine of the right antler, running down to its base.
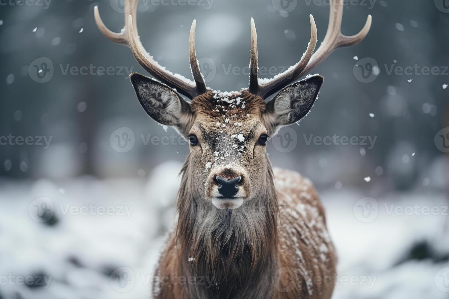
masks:
[[[272,95],[276,91],[279,91],[282,87],[295,81],[299,74],[304,70],[310,58],[312,57],[313,51],[315,51],[315,47],[317,45],[317,26],[315,25],[313,16],[310,15],[309,17],[311,29],[310,41],[308,43],[306,52],[304,52],[303,56],[301,57],[301,60],[286,72],[275,76],[268,83],[259,85],[258,91],[256,93],[257,95],[260,95],[262,98],[266,99],[267,97],[269,97],[269,95]]]

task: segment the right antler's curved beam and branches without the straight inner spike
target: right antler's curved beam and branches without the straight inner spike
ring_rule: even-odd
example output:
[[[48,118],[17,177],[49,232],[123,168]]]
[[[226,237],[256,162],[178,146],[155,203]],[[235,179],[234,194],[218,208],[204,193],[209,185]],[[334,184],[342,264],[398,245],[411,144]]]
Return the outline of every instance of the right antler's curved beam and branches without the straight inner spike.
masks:
[[[313,40],[311,37],[309,47],[304,53],[301,61],[295,65],[295,68],[289,69],[282,74],[278,74],[270,82],[259,86],[259,91],[257,93],[258,95],[266,99],[269,95],[272,95],[274,92],[280,90],[286,84],[289,84],[295,81],[296,78],[304,76],[304,74],[310,72],[322,61],[324,61],[335,49],[355,45],[360,43],[366,37],[371,28],[371,15],[368,15],[365,26],[363,26],[359,33],[352,36],[346,36],[341,33],[343,8],[343,0],[330,0],[329,25],[327,27],[326,36],[317,52],[313,55],[311,55],[312,53],[309,52],[309,49],[311,48],[310,45],[312,43],[314,43],[314,46],[316,44],[316,27],[313,22],[313,17],[311,16],[311,24],[313,23],[312,36],[315,27],[315,37]],[[312,52],[313,50],[314,48],[312,49]],[[309,54],[311,56],[308,56]]]

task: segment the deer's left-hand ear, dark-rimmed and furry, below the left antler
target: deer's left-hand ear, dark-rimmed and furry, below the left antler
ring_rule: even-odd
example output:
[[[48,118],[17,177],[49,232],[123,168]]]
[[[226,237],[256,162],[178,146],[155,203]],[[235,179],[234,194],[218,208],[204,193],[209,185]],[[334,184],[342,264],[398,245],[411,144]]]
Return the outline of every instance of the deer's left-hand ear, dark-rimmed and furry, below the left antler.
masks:
[[[130,79],[137,99],[151,118],[187,134],[193,118],[189,103],[172,88],[144,75],[132,73]]]

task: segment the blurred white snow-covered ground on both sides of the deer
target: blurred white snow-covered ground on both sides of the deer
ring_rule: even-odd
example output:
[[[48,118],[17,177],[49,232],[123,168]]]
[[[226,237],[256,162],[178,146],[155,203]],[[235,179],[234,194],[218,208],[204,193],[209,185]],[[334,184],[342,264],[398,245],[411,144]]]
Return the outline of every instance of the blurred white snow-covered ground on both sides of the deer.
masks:
[[[180,166],[146,180],[0,181],[0,298],[150,298]],[[339,255],[333,298],[449,297],[444,194],[320,194]]]

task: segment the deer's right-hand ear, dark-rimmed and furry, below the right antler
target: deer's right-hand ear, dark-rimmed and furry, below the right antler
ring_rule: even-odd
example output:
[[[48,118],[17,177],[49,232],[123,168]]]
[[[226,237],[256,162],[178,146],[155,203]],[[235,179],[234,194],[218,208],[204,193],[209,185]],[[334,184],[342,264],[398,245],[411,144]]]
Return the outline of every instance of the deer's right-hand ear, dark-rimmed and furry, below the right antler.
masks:
[[[282,126],[291,125],[307,115],[317,100],[324,78],[320,75],[307,78],[284,87],[267,103],[265,112],[268,127],[276,132]]]

